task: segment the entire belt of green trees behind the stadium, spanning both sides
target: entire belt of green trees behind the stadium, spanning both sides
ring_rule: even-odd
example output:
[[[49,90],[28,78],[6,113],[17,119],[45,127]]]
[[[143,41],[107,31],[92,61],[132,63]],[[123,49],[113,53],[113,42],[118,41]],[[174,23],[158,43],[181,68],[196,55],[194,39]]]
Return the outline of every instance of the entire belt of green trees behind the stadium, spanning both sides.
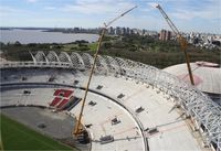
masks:
[[[66,51],[87,52],[93,54],[97,43],[86,41],[75,41],[67,44],[48,43],[48,44],[13,44],[0,43],[4,57],[12,61],[31,61],[29,52],[36,51]],[[188,54],[191,62],[207,61],[220,64],[220,50],[198,48],[188,45]],[[129,58],[133,61],[149,64],[159,68],[170,65],[185,63],[185,55],[177,41],[162,42],[151,36],[125,35],[104,37],[99,54]]]

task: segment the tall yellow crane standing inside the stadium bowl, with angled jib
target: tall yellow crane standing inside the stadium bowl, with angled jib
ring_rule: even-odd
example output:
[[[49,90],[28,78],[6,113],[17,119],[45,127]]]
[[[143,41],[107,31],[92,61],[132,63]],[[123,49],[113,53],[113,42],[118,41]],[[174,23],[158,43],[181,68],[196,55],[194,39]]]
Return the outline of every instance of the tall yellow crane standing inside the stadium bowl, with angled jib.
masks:
[[[96,48],[96,53],[94,55],[94,62],[93,62],[93,65],[92,65],[92,68],[91,68],[91,72],[90,72],[90,78],[88,78],[88,82],[86,84],[86,88],[85,88],[85,94],[84,94],[84,98],[83,98],[83,101],[82,101],[82,108],[81,108],[81,111],[80,111],[80,116],[78,116],[78,119],[76,120],[76,125],[74,127],[74,131],[73,131],[73,134],[74,136],[80,136],[82,134],[83,132],[83,128],[82,128],[82,116],[83,116],[83,111],[84,111],[84,106],[85,106],[85,101],[86,101],[86,97],[87,97],[87,93],[88,93],[88,88],[90,88],[90,84],[91,84],[91,80],[92,80],[92,76],[93,76],[93,73],[94,73],[94,69],[95,69],[95,65],[96,65],[96,61],[97,61],[97,55],[98,55],[98,52],[101,50],[101,45],[102,45],[102,40],[105,35],[105,31],[107,30],[107,28],[113,23],[115,22],[116,20],[118,20],[119,18],[122,18],[123,15],[125,15],[126,13],[130,12],[131,10],[134,10],[136,7],[125,11],[124,13],[122,13],[120,15],[118,15],[117,18],[115,18],[114,20],[109,21],[107,24],[104,23],[104,28],[102,30],[102,34],[99,36],[99,40],[98,40],[98,44],[97,44],[97,48]]]

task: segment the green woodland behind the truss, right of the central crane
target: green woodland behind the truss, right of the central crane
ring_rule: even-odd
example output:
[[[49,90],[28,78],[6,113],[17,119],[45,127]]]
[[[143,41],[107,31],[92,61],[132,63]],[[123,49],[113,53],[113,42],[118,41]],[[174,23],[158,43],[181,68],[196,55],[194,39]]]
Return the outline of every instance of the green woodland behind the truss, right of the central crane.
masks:
[[[221,51],[218,48],[199,48],[189,44],[187,51],[191,62],[207,61],[220,64]],[[129,58],[159,68],[186,62],[179,42],[162,42],[151,36],[127,35],[119,41],[105,42],[101,53]]]

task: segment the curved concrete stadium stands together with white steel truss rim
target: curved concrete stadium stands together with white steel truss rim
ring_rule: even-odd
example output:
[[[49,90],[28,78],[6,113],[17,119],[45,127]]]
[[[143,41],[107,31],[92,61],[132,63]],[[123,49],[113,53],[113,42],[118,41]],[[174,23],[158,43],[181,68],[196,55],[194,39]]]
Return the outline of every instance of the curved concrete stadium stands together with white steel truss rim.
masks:
[[[1,107],[44,106],[77,117],[93,56],[31,55],[32,62],[1,62]],[[221,150],[221,107],[156,67],[98,56],[86,101],[91,150]]]

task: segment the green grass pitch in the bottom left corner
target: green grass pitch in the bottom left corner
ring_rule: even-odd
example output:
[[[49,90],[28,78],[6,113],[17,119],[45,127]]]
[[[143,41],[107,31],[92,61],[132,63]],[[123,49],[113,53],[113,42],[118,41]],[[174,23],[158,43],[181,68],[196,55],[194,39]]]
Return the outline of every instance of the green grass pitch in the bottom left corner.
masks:
[[[0,115],[3,150],[74,150]]]

